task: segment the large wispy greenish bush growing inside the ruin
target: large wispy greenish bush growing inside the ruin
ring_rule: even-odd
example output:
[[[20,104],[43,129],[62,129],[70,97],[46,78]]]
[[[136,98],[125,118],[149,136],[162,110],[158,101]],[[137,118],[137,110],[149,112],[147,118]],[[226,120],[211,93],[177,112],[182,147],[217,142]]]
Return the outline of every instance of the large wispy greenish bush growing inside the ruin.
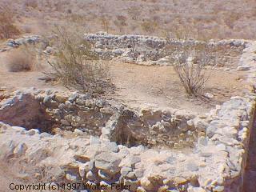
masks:
[[[48,63],[64,86],[93,95],[103,94],[110,87],[107,66],[91,50],[90,43],[74,31],[56,27],[54,47],[57,54],[54,61]]]

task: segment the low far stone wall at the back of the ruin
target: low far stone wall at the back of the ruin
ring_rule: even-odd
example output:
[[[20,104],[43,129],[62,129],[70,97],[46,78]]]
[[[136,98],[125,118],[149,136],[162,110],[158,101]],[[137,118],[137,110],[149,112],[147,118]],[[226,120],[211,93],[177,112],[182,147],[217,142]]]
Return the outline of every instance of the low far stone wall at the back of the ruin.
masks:
[[[247,44],[244,40],[199,42],[170,39],[166,41],[165,38],[106,33],[85,34],[85,39],[94,44],[95,52],[102,58],[118,58],[124,62],[145,65],[170,65],[184,47],[206,46],[207,54],[210,54],[211,66],[225,66],[232,69],[237,68],[242,50]]]

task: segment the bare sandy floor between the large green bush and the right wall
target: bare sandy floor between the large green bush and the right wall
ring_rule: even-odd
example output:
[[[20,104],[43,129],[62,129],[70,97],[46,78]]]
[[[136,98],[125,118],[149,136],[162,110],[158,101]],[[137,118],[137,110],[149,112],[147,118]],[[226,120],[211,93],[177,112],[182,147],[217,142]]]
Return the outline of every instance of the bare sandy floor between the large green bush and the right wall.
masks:
[[[204,92],[214,94],[212,99],[188,98],[172,66],[139,66],[114,63],[110,67],[117,91],[114,97],[129,106],[152,106],[185,109],[204,113],[231,96],[244,90],[243,72],[208,70],[209,82]]]

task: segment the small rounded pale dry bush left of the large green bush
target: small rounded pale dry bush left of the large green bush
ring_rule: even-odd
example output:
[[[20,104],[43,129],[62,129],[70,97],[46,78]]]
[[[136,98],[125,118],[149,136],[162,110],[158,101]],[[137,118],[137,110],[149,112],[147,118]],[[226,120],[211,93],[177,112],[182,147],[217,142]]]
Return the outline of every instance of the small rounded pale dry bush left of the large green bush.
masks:
[[[10,72],[21,72],[34,70],[35,58],[24,48],[13,50],[6,59],[6,65]]]

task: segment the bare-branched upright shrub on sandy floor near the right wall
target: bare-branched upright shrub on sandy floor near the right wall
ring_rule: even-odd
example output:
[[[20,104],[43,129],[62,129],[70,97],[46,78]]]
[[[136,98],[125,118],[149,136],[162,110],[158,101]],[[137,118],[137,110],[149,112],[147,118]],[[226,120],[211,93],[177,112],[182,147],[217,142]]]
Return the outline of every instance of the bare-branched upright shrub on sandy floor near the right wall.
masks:
[[[201,94],[203,86],[209,80],[205,67],[210,64],[210,54],[206,46],[184,47],[174,57],[174,70],[188,95]]]

